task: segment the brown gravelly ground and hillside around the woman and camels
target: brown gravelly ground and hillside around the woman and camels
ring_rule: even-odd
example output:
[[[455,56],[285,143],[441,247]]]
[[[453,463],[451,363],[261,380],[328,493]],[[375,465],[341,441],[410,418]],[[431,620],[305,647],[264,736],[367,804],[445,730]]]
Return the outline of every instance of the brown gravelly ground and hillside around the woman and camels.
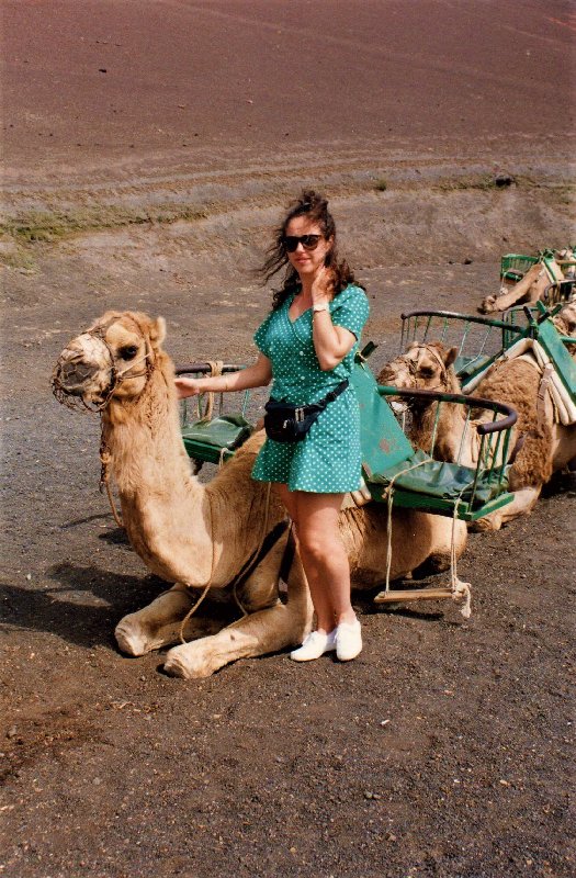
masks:
[[[540,0],[7,0],[0,876],[574,875],[574,481],[471,537],[468,622],[359,604],[346,667],[182,683],[115,649],[163,584],[97,491],[98,421],[48,389],[108,307],[163,314],[177,360],[249,359],[249,269],[309,183],[375,362],[403,311],[474,311],[501,252],[573,238],[573,27]]]

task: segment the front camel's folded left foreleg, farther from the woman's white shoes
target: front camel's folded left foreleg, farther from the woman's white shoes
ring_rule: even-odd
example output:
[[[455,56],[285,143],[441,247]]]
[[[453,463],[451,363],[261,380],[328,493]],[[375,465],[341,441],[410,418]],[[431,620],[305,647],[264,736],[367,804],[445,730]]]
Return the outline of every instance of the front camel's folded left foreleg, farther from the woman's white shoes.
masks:
[[[131,612],[117,623],[116,642],[127,655],[144,655],[161,646],[177,643],[180,624],[194,601],[185,586],[177,584],[138,612]],[[183,631],[185,640],[219,631],[225,621],[192,616]]]

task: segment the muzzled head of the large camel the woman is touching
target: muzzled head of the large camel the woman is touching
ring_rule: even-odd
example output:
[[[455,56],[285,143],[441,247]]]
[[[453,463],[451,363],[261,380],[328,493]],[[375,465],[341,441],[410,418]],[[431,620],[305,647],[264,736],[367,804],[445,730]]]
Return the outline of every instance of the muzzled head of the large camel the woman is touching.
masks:
[[[111,399],[139,396],[166,335],[163,317],[108,311],[60,353],[52,376],[58,402],[100,412]]]

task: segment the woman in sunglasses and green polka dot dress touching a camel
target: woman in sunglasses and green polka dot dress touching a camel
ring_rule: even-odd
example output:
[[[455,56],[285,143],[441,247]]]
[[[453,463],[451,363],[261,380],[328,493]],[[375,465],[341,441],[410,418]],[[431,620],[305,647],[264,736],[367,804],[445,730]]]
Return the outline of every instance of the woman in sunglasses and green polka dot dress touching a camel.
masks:
[[[294,522],[316,610],[316,630],[291,658],[307,662],[336,650],[340,661],[349,661],[360,653],[362,637],[350,603],[338,514],[345,494],[360,487],[360,415],[346,382],[369,305],[338,258],[334,218],[315,192],[303,192],[292,205],[260,273],[267,282],[284,267],[272,312],[255,335],[256,363],[218,378],[178,379],[177,387],[184,397],[244,391],[272,380],[272,397],[295,406],[324,402],[336,391],[302,441],[267,438],[252,477],[275,484]]]

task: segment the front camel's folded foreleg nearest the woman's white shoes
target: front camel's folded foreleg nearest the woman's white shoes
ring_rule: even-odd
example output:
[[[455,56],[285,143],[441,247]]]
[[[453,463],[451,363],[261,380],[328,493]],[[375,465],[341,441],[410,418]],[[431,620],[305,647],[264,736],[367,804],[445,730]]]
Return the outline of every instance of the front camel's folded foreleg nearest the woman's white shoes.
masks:
[[[301,643],[310,630],[312,618],[308,585],[296,556],[289,576],[287,604],[279,601],[245,616],[218,634],[174,646],[168,652],[165,671],[184,679],[208,677],[237,658],[278,652]]]

